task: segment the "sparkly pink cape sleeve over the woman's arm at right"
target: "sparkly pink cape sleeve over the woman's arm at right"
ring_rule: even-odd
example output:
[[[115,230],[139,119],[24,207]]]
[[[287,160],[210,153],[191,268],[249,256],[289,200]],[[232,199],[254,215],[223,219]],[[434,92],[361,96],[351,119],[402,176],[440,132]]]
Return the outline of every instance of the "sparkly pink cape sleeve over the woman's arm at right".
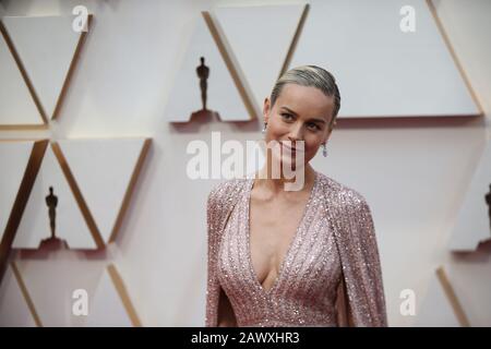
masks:
[[[360,194],[343,194],[338,249],[348,321],[355,326],[387,326],[382,270],[370,208]]]

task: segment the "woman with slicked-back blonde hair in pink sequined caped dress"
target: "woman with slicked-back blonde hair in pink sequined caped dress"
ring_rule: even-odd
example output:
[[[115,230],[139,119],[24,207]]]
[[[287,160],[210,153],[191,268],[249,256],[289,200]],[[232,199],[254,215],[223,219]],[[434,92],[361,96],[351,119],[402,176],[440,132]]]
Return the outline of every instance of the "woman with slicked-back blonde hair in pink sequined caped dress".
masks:
[[[265,141],[280,152],[208,195],[206,326],[386,326],[370,208],[309,164],[326,155],[339,107],[335,79],[314,65],[286,72],[265,99]],[[301,190],[272,176],[275,160],[297,164]]]

